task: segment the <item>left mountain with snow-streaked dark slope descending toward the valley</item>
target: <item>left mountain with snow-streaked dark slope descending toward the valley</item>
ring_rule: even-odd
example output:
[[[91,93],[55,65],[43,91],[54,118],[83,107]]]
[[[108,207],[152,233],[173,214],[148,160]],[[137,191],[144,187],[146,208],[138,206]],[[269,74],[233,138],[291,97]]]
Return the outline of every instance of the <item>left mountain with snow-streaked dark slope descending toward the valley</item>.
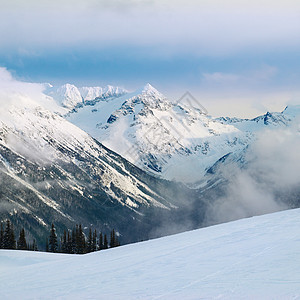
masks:
[[[31,102],[0,113],[0,178],[0,219],[9,217],[36,238],[52,222],[59,230],[81,222],[114,227],[124,243],[145,239],[161,214],[180,207],[181,193],[189,194]]]

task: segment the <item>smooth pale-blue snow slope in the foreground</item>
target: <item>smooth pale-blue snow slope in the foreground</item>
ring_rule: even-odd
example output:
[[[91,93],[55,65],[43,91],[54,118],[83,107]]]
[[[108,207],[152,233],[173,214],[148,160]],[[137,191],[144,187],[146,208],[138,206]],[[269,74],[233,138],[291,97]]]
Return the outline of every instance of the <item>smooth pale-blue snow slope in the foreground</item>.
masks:
[[[84,256],[0,251],[1,299],[297,299],[300,209]]]

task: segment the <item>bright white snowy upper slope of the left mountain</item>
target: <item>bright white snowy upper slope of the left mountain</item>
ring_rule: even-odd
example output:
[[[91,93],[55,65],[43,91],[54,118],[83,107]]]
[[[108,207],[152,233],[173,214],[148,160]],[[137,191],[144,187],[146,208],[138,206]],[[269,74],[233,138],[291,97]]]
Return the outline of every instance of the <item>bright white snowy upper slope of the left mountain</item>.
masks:
[[[90,156],[96,160],[102,157],[107,158],[108,163],[102,158],[102,176],[99,179],[99,184],[101,183],[109,189],[113,183],[128,197],[136,193],[141,201],[140,203],[146,203],[146,199],[152,202],[151,198],[134,187],[136,184],[143,186],[142,182],[131,178],[132,175],[126,171],[124,166],[119,162],[114,162],[112,157],[108,157],[108,152],[87,133],[60,116],[41,107],[35,109],[12,107],[8,111],[7,118],[9,121],[2,122],[0,127],[2,133],[0,145],[8,147],[31,162],[38,163],[41,167],[70,161],[80,165],[80,161],[76,162],[76,157],[70,155],[72,152],[79,152],[82,157]],[[62,151],[62,149],[65,150]],[[0,160],[6,165],[3,157],[0,156]],[[113,163],[117,164],[119,170],[112,167]],[[15,174],[15,170],[11,169],[9,165],[6,165],[6,168],[8,174],[11,174],[11,176]],[[128,178],[124,177],[125,174]],[[76,184],[74,184],[74,188],[76,188]],[[146,186],[144,188],[147,190]],[[117,195],[112,194],[112,196],[118,201],[123,201]],[[156,204],[160,206],[159,203]],[[136,207],[138,207],[137,204]]]

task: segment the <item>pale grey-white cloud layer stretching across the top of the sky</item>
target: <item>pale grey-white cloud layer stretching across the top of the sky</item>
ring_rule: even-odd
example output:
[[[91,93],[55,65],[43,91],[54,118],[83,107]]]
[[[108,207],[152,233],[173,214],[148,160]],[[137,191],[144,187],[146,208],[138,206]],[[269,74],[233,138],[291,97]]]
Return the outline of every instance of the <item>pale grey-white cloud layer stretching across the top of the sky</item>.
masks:
[[[284,9],[258,1],[21,2],[2,4],[2,49],[125,44],[211,56],[300,46],[300,6],[292,1]]]

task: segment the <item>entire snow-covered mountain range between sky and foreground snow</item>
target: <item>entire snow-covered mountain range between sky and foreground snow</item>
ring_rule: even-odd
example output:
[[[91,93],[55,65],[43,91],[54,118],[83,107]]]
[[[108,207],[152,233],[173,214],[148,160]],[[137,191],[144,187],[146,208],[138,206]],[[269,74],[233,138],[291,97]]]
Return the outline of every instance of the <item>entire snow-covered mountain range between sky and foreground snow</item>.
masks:
[[[226,189],[219,166],[241,162],[257,132],[299,115],[292,107],[214,118],[150,84],[132,93],[44,87],[43,103],[24,100],[0,114],[0,216],[40,245],[51,223],[59,233],[76,223],[115,228],[122,243],[204,226]]]

